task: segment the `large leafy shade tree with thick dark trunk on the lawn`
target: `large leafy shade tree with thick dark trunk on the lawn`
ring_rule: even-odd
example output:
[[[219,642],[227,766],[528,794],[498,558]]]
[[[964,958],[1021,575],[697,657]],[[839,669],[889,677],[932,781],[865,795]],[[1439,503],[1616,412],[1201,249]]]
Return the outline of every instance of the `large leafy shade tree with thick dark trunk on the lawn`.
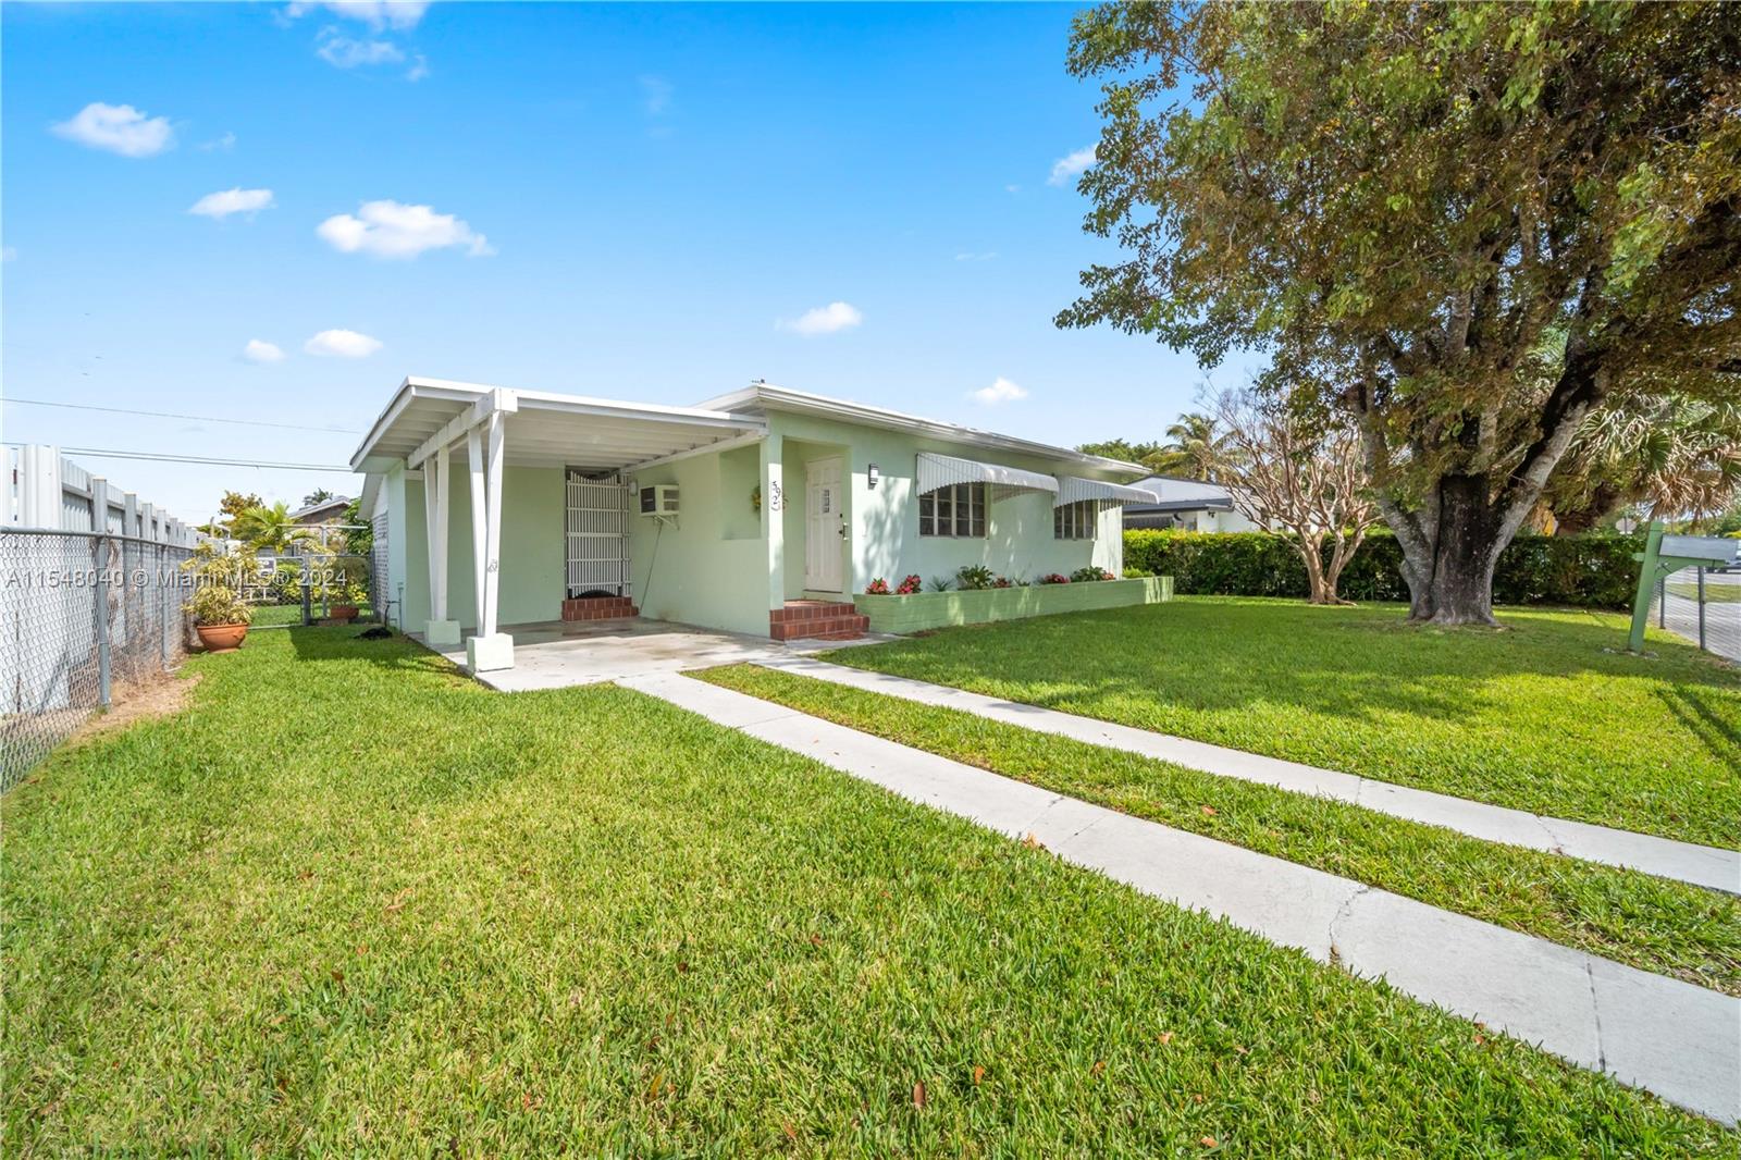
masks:
[[[1616,392],[1738,397],[1741,5],[1111,3],[1069,68],[1126,258],[1059,322],[1346,411],[1415,618],[1492,622]]]

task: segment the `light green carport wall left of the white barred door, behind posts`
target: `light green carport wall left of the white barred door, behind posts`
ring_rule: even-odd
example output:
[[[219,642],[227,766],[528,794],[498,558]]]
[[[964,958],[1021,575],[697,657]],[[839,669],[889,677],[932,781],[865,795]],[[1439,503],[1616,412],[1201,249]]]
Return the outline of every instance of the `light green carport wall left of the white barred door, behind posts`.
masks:
[[[428,531],[423,516],[423,479],[397,472],[404,495],[388,512],[390,556],[404,552],[404,624],[421,632],[430,618]],[[388,475],[388,481],[393,474]],[[395,503],[395,491],[388,491]],[[501,472],[501,625],[555,620],[562,615],[564,484],[555,467],[505,467]],[[400,549],[400,543],[404,545]],[[392,564],[390,564],[392,571]],[[477,629],[475,573],[472,570],[472,484],[465,460],[454,460],[447,495],[447,617],[461,629]]]

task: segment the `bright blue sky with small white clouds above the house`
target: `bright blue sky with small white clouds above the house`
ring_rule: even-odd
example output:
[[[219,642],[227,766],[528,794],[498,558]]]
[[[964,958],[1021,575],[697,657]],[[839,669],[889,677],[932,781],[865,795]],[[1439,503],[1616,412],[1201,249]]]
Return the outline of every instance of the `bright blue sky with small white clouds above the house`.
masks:
[[[1072,12],[7,3],[5,394],[359,430],[406,374],[656,402],[766,378],[1156,437],[1196,362],[1052,326],[1111,254],[1053,179],[1099,129]],[[320,463],[357,441],[19,404],[3,434]],[[357,486],[87,465],[190,519],[226,486]]]

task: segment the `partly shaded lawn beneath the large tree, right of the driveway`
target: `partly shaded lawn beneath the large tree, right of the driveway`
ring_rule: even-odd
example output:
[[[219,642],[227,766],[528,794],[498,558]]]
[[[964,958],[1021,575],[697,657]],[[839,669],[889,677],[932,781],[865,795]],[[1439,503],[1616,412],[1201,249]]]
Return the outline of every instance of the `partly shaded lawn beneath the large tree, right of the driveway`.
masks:
[[[1741,671],[1612,613],[1179,597],[829,660],[1682,841],[1741,846]]]

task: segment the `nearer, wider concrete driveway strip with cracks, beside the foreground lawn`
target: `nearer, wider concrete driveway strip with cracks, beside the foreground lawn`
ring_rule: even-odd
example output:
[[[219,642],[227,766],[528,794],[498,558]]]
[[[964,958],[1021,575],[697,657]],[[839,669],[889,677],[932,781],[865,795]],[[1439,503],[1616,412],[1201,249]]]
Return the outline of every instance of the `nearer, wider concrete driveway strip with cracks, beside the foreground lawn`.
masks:
[[[676,674],[620,681],[750,737],[1208,911],[1684,1108],[1741,1116],[1741,1000],[1146,822]]]

